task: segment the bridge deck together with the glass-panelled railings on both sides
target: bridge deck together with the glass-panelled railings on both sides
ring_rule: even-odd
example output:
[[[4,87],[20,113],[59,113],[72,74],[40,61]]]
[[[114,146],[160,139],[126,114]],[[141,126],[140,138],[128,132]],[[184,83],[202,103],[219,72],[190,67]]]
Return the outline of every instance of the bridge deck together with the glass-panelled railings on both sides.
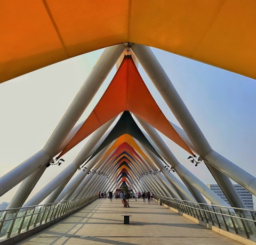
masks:
[[[245,210],[234,214],[164,197],[129,204],[94,196],[9,210],[0,224],[1,244],[256,244],[255,218],[247,213],[241,219]],[[123,215],[131,215],[129,224]]]

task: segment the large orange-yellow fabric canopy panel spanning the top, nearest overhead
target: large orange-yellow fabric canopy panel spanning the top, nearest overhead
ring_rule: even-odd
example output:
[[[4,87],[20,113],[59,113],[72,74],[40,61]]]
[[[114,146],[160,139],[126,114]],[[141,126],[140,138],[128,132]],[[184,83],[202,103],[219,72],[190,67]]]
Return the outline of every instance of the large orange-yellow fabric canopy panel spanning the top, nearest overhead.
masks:
[[[255,0],[3,0],[0,82],[119,43],[256,78]]]

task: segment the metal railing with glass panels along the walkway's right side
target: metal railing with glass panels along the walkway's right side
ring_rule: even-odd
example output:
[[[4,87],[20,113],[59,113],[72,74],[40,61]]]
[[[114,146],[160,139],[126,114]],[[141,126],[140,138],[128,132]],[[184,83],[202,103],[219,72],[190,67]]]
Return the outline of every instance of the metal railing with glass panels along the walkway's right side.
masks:
[[[179,210],[222,230],[256,239],[256,210],[225,207],[155,195],[159,204]]]

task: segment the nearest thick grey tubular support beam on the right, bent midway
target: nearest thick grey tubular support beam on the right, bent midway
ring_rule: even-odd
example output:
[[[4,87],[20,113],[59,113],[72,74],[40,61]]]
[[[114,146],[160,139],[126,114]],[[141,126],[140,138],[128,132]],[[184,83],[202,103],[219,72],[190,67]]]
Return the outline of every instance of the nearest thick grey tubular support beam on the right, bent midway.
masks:
[[[131,48],[201,158],[256,195],[256,178],[211,148],[151,49],[139,44],[132,44]]]

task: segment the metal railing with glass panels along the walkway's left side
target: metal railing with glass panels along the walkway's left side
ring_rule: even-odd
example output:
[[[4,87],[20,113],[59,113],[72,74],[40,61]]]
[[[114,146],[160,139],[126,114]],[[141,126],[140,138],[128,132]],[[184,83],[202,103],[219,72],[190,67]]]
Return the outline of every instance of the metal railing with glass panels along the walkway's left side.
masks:
[[[61,216],[68,215],[68,213],[74,212],[74,210],[97,198],[98,195],[94,195],[53,204],[0,210],[0,243]]]

